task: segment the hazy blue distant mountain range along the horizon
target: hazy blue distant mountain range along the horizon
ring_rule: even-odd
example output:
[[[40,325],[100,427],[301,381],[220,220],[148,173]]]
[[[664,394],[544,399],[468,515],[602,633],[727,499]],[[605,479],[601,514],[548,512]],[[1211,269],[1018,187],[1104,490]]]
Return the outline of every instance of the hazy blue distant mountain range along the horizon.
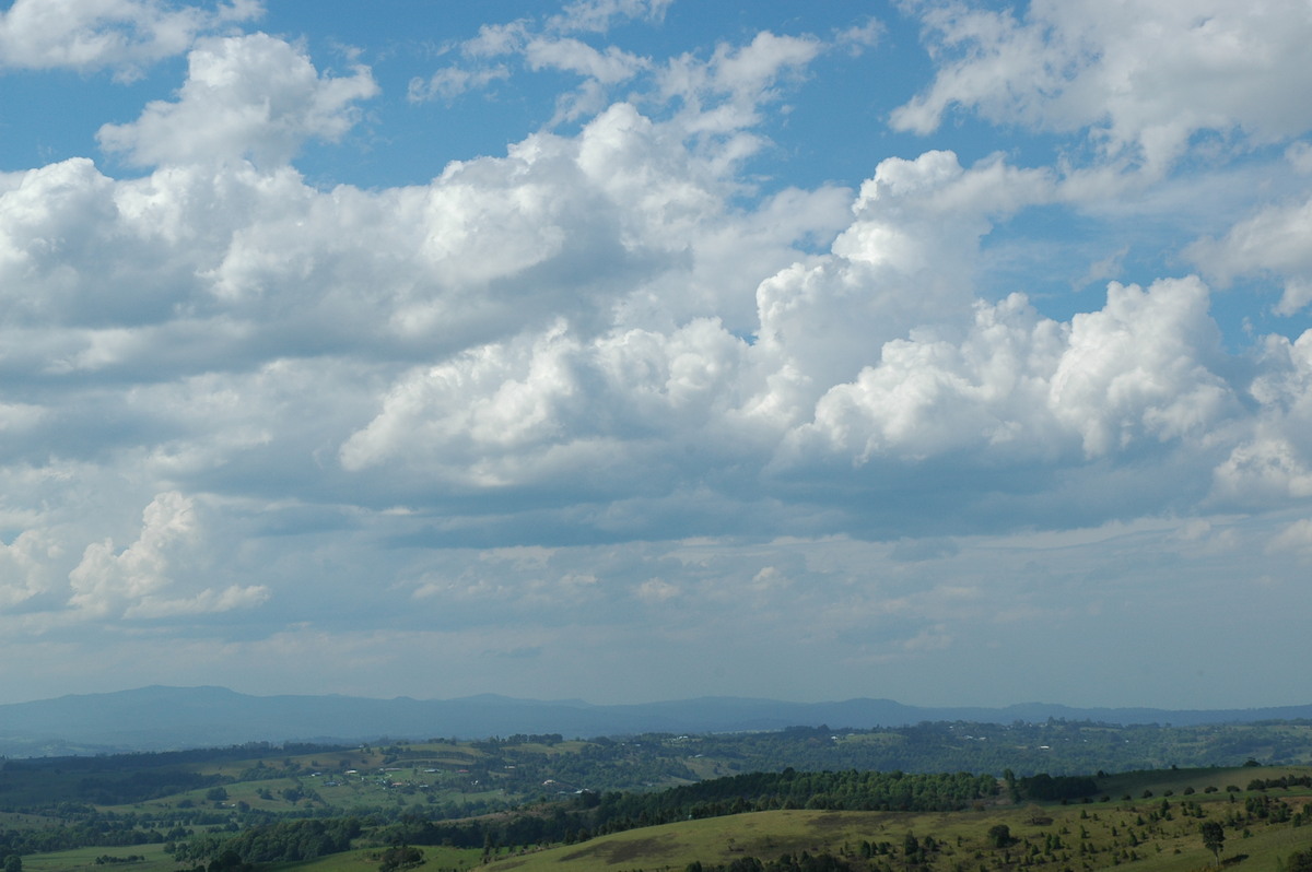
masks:
[[[482,695],[450,700],[358,696],[249,696],[223,687],[143,687],[0,705],[0,754],[47,757],[223,747],[245,742],[374,742],[379,738],[485,738],[516,733],[568,737],[647,732],[726,733],[786,726],[905,726],[921,721],[1010,724],[1050,717],[1107,724],[1252,723],[1312,719],[1312,705],[1168,711],[1071,708],[922,708],[887,699],[782,703],[707,696],[638,705],[539,702]]]

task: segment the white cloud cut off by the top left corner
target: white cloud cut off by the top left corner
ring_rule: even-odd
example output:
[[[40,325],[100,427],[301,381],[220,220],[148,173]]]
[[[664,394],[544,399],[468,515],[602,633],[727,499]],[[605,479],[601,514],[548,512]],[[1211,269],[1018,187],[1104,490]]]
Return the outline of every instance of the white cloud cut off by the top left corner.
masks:
[[[140,68],[182,54],[198,35],[258,18],[258,0],[232,0],[214,12],[168,0],[14,0],[0,12],[0,67]]]

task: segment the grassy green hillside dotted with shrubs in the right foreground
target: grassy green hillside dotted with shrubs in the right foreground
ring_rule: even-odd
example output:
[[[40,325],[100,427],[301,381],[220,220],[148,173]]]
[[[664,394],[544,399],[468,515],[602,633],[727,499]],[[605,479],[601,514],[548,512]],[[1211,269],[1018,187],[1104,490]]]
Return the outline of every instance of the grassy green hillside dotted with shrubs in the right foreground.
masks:
[[[773,810],[685,821],[604,835],[581,844],[497,859],[489,872],[677,869],[701,863],[749,868],[791,856],[828,855],[836,868],[1111,869],[1183,872],[1214,865],[1200,823],[1220,822],[1228,867],[1273,871],[1312,850],[1312,789],[1225,792],[1231,782],[1307,778],[1308,770],[1160,771],[1101,784],[1135,788],[1135,799],[1075,804],[991,803],[963,812],[887,813]],[[1204,793],[1210,787],[1215,792]],[[1009,839],[1000,843],[998,827]],[[908,838],[911,837],[911,839]],[[908,855],[911,842],[918,852]]]

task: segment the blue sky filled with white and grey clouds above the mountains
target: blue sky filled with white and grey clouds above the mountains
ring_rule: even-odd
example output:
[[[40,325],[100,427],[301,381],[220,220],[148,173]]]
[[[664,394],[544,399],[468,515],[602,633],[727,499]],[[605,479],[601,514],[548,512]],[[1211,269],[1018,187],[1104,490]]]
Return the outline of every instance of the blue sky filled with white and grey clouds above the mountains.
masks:
[[[0,5],[0,702],[1312,702],[1307,0]]]

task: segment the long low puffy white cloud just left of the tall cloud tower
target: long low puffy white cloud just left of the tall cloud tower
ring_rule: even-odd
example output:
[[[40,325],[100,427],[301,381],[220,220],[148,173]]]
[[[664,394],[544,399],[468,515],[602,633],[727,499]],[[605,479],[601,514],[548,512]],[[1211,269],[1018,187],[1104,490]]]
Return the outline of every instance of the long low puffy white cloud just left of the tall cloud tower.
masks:
[[[712,321],[592,342],[558,325],[408,374],[344,443],[342,463],[400,462],[461,488],[596,481],[623,490],[642,480],[653,439],[726,426],[745,349]]]

